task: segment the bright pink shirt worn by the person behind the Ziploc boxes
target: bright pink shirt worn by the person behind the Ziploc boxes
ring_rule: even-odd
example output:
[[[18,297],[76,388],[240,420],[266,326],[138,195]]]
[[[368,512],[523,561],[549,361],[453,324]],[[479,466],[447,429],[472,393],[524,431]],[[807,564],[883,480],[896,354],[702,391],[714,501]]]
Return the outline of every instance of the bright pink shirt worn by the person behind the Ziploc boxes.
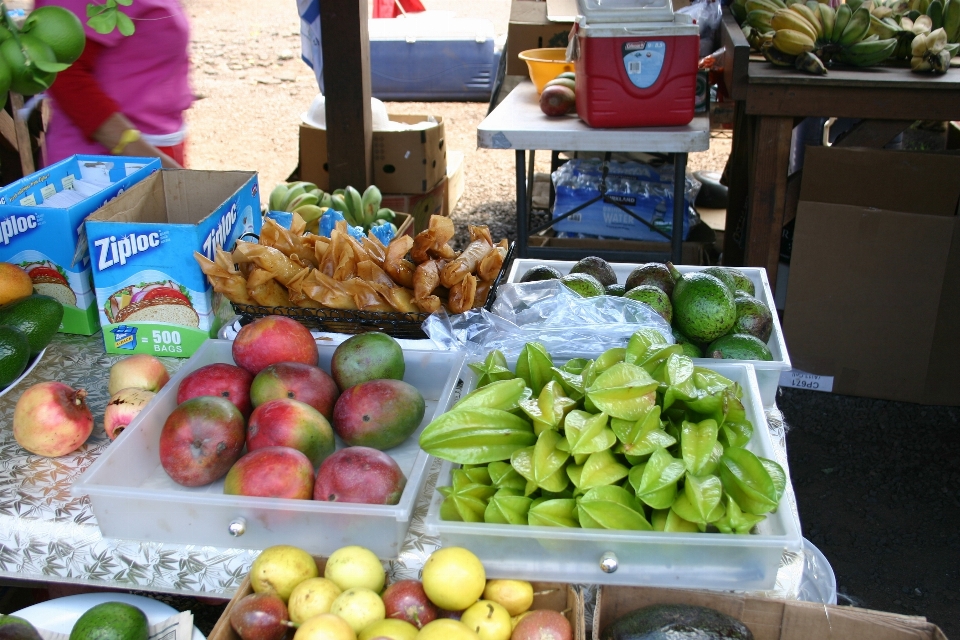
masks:
[[[104,93],[116,100],[123,114],[148,135],[167,135],[184,127],[184,111],[193,102],[188,45],[190,29],[178,0],[134,0],[120,10],[133,19],[136,31],[102,35],[86,26],[90,0],[36,0],[35,6],[59,5],[84,22],[87,38],[104,45],[94,77]],[[75,153],[109,155],[89,140],[51,99],[47,131],[47,163]]]

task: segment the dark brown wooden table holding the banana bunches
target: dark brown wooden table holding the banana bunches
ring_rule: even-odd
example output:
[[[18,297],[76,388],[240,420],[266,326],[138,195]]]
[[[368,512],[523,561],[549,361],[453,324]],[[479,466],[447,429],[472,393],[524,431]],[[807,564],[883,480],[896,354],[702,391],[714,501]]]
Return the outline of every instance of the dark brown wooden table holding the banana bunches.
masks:
[[[787,175],[793,127],[805,117],[862,118],[839,146],[882,148],[916,120],[960,120],[960,69],[831,69],[816,76],[751,59],[725,15],[724,82],[736,101],[723,262],[766,267],[776,282],[783,225],[796,215],[800,172]]]

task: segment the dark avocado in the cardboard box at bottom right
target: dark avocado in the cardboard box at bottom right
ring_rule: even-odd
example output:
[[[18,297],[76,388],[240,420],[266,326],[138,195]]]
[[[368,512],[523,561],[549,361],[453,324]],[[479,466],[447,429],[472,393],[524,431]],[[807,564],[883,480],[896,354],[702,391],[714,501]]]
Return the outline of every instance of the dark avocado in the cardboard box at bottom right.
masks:
[[[620,616],[600,632],[600,640],[753,640],[753,634],[716,609],[655,604]]]

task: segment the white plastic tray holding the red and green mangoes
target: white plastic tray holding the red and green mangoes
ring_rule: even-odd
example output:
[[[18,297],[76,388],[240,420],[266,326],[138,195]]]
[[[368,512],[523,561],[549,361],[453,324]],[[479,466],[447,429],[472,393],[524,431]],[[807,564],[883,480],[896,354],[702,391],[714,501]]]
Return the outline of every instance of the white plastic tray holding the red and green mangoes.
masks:
[[[395,558],[429,471],[430,456],[420,449],[419,434],[449,406],[463,353],[404,349],[404,380],[423,395],[426,412],[410,438],[386,451],[407,477],[400,502],[373,505],[224,495],[223,480],[189,488],[170,479],[160,466],[158,447],[163,424],[177,406],[177,387],[200,367],[216,362],[233,364],[232,344],[206,341],[74,482],[74,495],[89,496],[103,536],[245,549],[264,549],[282,542],[314,555],[361,545],[380,558]],[[336,345],[318,349],[320,367],[329,371]],[[338,438],[337,448],[341,447]]]

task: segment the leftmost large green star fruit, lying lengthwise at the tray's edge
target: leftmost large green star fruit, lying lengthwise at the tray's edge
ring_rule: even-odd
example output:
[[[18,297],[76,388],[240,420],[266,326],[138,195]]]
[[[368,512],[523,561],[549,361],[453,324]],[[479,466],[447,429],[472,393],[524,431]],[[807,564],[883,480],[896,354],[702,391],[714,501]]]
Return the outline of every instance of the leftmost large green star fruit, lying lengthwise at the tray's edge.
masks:
[[[533,426],[499,409],[448,411],[420,434],[420,448],[432,456],[460,464],[508,460],[536,442]]]

